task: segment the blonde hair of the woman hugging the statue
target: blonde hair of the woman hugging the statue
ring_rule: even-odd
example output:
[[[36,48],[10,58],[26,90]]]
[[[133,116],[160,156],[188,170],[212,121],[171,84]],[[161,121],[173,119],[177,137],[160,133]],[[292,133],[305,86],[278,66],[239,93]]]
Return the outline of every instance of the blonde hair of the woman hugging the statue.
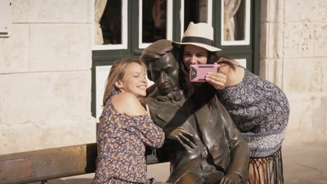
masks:
[[[139,59],[124,58],[115,61],[115,63],[113,63],[110,68],[110,72],[106,81],[106,88],[103,94],[102,102],[103,106],[106,105],[106,102],[108,101],[109,95],[112,91],[119,91],[119,89],[117,89],[117,87],[115,86],[115,82],[124,77],[126,68],[128,68],[131,63],[138,63],[140,66],[142,66],[142,68],[144,68],[144,70],[146,68],[145,64]]]

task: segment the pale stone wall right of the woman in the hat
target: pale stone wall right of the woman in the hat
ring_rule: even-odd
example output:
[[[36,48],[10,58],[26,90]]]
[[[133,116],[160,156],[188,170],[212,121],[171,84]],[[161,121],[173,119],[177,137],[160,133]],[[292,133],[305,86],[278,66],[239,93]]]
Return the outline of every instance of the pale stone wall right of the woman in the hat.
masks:
[[[327,1],[261,1],[261,77],[283,89],[286,143],[327,140]]]

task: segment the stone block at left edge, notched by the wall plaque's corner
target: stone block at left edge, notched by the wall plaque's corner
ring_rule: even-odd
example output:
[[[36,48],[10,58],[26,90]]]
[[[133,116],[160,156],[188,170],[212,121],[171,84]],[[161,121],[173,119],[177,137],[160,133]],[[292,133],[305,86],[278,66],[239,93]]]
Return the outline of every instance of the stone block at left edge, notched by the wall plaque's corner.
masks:
[[[29,25],[13,24],[12,31],[0,38],[0,73],[29,71]]]

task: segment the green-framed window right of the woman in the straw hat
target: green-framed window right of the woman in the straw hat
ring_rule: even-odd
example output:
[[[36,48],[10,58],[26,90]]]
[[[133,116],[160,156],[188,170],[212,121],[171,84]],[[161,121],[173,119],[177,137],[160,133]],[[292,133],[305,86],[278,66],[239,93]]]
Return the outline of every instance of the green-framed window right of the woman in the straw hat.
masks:
[[[259,72],[260,1],[218,0],[212,6],[215,45],[251,72]]]

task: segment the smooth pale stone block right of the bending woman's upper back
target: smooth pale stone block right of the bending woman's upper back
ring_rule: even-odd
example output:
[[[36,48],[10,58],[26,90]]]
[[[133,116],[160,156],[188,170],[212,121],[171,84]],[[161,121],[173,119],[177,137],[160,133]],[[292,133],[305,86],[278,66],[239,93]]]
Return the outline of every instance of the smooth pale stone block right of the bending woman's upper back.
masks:
[[[289,93],[322,93],[324,62],[315,59],[284,60],[284,89]]]

